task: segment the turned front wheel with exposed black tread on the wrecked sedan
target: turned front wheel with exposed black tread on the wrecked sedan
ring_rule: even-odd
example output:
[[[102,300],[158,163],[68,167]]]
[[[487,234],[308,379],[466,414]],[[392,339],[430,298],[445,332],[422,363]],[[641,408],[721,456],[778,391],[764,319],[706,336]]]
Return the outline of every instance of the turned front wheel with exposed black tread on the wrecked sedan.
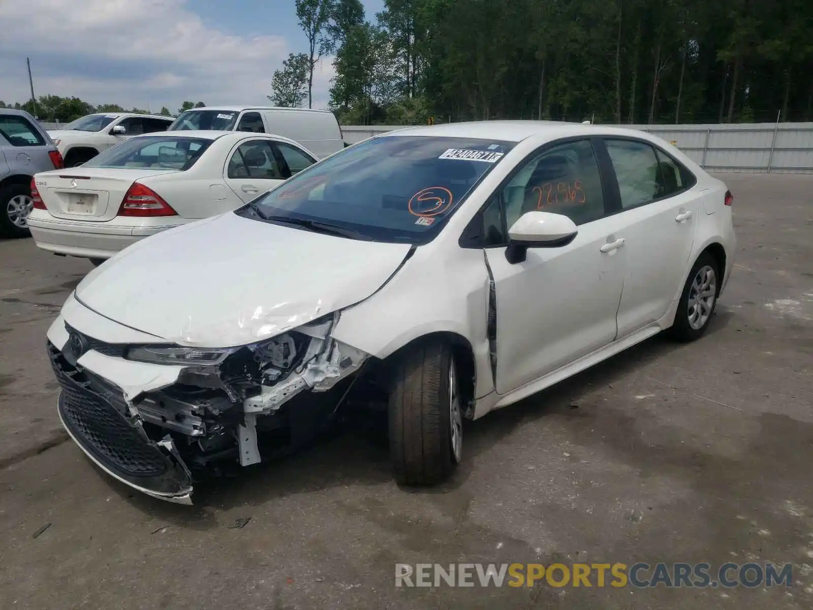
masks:
[[[451,430],[450,383],[459,383],[454,375],[451,346],[441,341],[408,348],[395,367],[389,395],[389,455],[401,485],[436,485],[446,480],[459,462],[459,411],[454,418],[461,424],[456,456]],[[459,396],[456,388],[454,395]]]

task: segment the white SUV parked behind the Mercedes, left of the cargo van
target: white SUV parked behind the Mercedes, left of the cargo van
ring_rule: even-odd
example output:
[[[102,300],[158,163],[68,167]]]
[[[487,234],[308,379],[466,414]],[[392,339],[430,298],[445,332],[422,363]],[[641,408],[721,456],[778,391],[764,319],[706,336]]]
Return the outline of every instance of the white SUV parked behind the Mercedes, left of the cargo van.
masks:
[[[128,137],[166,131],[173,120],[172,116],[100,112],[85,115],[63,129],[49,131],[48,135],[62,153],[65,167],[73,168]]]

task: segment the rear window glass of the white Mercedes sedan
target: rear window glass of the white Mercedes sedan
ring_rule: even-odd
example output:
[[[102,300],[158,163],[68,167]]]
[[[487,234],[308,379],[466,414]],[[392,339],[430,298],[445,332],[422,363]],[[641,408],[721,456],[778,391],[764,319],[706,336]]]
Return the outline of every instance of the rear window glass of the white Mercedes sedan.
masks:
[[[131,137],[93,157],[82,167],[184,171],[194,165],[211,142],[195,137]]]

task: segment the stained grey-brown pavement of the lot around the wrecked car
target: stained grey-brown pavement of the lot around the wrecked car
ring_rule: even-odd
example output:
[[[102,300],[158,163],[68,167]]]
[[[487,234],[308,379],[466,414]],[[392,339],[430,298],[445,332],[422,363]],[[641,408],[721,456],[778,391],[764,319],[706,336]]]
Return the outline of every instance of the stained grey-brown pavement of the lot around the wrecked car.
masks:
[[[706,336],[470,423],[454,480],[417,492],[361,433],[191,508],[112,481],[65,442],[44,351],[90,264],[0,242],[0,608],[811,608],[813,176],[721,177],[739,244]],[[397,562],[750,560],[793,585],[393,584]]]

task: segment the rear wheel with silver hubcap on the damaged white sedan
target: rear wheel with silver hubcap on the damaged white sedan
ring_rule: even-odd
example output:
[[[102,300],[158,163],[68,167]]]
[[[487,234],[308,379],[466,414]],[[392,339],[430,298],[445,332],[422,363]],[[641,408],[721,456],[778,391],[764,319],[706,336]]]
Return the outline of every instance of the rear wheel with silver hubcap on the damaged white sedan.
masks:
[[[700,338],[706,332],[711,315],[717,305],[720,288],[720,271],[717,261],[709,254],[703,254],[694,264],[680,302],[677,304],[672,336],[678,341],[688,342]]]

